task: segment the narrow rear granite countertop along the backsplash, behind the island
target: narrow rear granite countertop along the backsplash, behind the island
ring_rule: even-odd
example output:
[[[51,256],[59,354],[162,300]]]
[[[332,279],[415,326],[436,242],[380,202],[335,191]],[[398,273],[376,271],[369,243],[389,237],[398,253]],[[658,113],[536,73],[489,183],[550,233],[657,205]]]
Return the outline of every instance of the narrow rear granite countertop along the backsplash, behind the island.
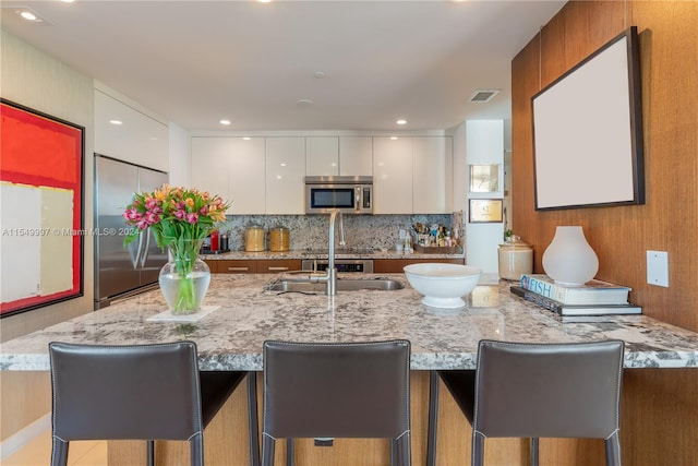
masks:
[[[277,260],[277,259],[327,259],[327,250],[318,249],[309,251],[305,249],[274,252],[274,251],[229,251],[218,254],[202,254],[202,259],[206,261],[215,260]],[[371,250],[349,248],[347,250],[337,249],[335,259],[462,259],[462,252],[459,253],[423,253],[423,252],[397,252],[394,250]]]

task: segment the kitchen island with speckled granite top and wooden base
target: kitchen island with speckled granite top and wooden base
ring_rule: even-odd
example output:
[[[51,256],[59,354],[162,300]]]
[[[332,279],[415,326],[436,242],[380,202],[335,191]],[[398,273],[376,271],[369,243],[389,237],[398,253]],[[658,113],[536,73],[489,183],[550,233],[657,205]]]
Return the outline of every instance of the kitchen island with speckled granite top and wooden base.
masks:
[[[694,371],[698,367],[698,334],[647,316],[563,323],[550,311],[513,296],[508,283],[496,280],[493,285],[476,288],[466,309],[440,311],[422,306],[421,296],[409,287],[404,275],[386,276],[402,280],[406,287],[394,291],[339,292],[334,297],[278,295],[264,291],[264,285],[272,279],[268,275],[215,275],[207,303],[220,308],[201,321],[191,323],[148,322],[148,318],[166,309],[159,291],[153,290],[3,344],[0,356],[2,378],[4,381],[8,377],[21,378],[23,374],[36,374],[37,371],[47,373],[46,345],[49,340],[134,344],[193,339],[200,348],[202,369],[257,371],[260,378],[262,343],[267,338],[350,342],[404,337],[412,342],[412,454],[417,463],[425,457],[429,371],[474,368],[477,344],[481,338],[531,342],[621,338],[627,343],[624,382],[627,381],[629,385],[637,383],[640,373],[650,372],[671,379],[677,372]],[[246,430],[243,392],[233,396],[230,405],[224,408],[220,419],[209,426],[209,438],[228,439],[231,428]],[[626,389],[624,393],[624,419],[635,410],[646,409],[646,399],[634,399],[633,392]],[[458,415],[447,391],[442,390],[440,461],[458,464],[459,458],[468,457],[470,427]],[[636,437],[638,432],[641,432],[640,427],[629,421],[622,422],[622,443],[624,437]],[[665,439],[664,443],[667,441]],[[233,444],[238,445],[238,442],[236,440]],[[555,464],[595,464],[603,458],[603,442],[597,445],[586,440],[551,440],[555,443],[553,449],[546,447],[546,442],[542,442],[541,451],[554,452],[551,454],[556,455]],[[213,452],[208,456],[214,462],[212,464],[216,464],[217,457],[221,461],[234,457],[244,464],[248,454],[244,439],[240,447],[217,440],[208,443],[210,445],[207,449]],[[527,447],[526,442],[519,439],[497,439],[492,444],[498,452],[494,455],[502,455],[506,464],[517,464],[518,459],[515,458],[520,458]],[[573,451],[579,444],[582,444],[583,458],[575,459]],[[167,446],[161,447],[168,455],[180,454],[180,445],[168,442]],[[139,449],[137,443],[110,443],[110,461],[122,464],[124,457],[137,455],[134,452]],[[336,442],[334,449],[326,450],[313,447],[312,442],[299,442],[297,453],[299,461],[308,458],[312,464],[327,461],[323,455],[365,459],[369,464],[384,461],[387,464],[388,457],[387,443],[374,440],[342,440]],[[281,449],[278,454],[282,454]]]

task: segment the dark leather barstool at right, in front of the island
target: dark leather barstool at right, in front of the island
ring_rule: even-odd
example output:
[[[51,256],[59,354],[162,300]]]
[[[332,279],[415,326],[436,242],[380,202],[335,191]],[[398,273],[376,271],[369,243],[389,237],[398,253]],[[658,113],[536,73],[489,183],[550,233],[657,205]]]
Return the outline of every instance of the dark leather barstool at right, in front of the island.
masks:
[[[603,439],[606,464],[621,466],[621,340],[526,344],[482,340],[476,371],[438,371],[472,426],[473,466],[484,464],[484,439]],[[436,458],[437,379],[432,373],[428,464]]]

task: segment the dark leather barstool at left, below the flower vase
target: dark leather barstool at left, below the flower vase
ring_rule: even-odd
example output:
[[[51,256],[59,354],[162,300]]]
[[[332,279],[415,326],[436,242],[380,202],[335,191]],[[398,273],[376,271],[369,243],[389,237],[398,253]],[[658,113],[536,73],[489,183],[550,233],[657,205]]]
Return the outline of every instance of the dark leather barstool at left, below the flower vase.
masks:
[[[198,371],[193,342],[99,346],[50,343],[51,465],[73,440],[186,440],[203,466],[203,431],[246,372]],[[250,385],[254,387],[250,373]],[[254,413],[253,413],[254,407]],[[249,393],[251,464],[258,464],[256,393]]]

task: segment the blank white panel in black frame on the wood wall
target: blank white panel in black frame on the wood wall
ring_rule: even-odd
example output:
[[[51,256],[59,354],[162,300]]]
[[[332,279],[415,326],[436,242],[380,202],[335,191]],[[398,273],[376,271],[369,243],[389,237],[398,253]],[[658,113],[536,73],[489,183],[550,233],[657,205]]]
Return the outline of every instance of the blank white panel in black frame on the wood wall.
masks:
[[[645,204],[640,87],[633,26],[532,97],[537,211]]]

